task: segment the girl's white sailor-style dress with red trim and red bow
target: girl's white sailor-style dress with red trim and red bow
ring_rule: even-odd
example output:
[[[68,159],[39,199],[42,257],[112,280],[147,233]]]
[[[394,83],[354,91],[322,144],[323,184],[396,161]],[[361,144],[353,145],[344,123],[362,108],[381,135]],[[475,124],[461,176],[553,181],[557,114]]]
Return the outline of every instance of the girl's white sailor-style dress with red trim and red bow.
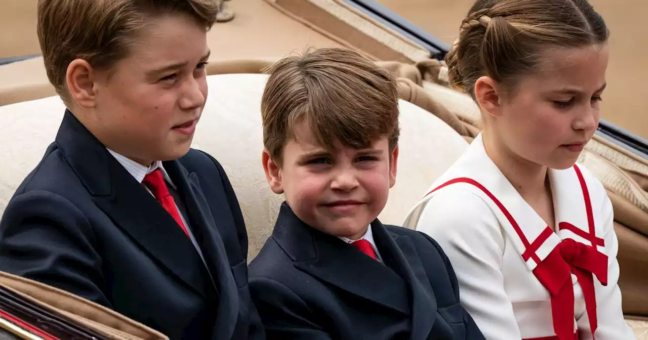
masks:
[[[635,339],[623,319],[612,203],[583,166],[550,169],[556,232],[487,155],[481,135],[408,214],[459,281],[489,340]]]

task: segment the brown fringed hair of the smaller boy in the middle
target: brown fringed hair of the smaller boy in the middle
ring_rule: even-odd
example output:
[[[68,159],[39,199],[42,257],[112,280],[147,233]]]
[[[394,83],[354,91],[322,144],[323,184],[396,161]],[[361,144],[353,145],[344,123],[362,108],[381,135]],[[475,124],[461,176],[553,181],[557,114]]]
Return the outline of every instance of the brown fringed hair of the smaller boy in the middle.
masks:
[[[307,122],[316,142],[366,148],[388,137],[399,140],[396,82],[388,71],[347,49],[316,49],[279,60],[261,98],[263,143],[270,157],[295,138],[295,126]]]

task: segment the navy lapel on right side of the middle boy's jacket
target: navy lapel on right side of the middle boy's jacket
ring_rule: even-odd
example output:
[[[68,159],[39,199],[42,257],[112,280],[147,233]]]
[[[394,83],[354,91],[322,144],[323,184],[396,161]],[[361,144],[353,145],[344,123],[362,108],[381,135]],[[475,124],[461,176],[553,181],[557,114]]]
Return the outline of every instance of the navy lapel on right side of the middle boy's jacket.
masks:
[[[371,228],[385,264],[396,271],[411,289],[410,339],[428,339],[437,315],[437,301],[419,253],[408,236],[387,231],[380,221],[371,223]]]

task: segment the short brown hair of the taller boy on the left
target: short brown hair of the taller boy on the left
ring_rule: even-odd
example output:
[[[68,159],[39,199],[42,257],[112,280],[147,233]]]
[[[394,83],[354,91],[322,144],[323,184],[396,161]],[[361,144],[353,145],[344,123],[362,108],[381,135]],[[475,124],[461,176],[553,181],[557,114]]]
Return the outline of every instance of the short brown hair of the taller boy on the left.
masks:
[[[151,16],[185,14],[205,28],[220,0],[38,0],[38,41],[56,93],[68,102],[65,73],[77,58],[110,69],[128,56],[137,30]]]

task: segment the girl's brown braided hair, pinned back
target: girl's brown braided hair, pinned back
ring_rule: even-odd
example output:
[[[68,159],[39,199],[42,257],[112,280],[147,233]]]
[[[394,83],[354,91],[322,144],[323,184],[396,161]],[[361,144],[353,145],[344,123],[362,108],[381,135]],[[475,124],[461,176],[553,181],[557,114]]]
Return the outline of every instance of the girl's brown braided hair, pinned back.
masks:
[[[544,49],[603,44],[608,36],[587,0],[477,0],[445,58],[450,85],[473,99],[480,76],[512,89],[536,71]]]

